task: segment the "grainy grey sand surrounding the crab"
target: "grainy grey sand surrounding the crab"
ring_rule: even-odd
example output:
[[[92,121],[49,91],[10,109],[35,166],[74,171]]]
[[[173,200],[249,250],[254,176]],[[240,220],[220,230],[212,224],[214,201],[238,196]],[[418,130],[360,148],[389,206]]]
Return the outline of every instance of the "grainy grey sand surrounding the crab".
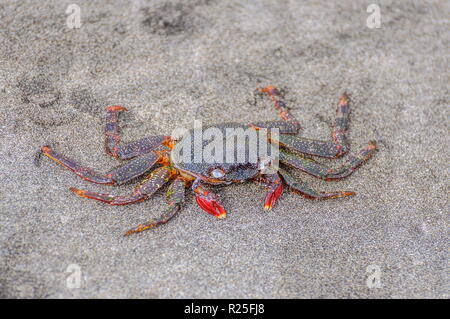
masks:
[[[448,298],[448,1],[381,1],[374,29],[371,1],[77,1],[79,29],[66,25],[71,3],[0,4],[1,297]],[[163,211],[162,193],[127,207],[81,199],[68,187],[132,186],[39,157],[51,144],[117,165],[103,150],[111,104],[130,109],[124,141],[194,118],[276,119],[254,94],[268,84],[309,138],[329,138],[348,92],[352,149],[375,139],[380,151],[346,180],[304,178],[357,196],[286,191],[265,212],[264,190],[246,183],[220,190],[229,215],[216,220],[189,193],[169,224],[124,238]]]

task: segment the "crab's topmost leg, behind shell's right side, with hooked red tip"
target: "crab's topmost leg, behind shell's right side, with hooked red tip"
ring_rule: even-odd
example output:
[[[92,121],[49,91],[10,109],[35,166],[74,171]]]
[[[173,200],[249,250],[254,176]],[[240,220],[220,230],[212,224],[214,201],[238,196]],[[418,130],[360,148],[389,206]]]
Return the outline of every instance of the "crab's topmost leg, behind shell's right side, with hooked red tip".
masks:
[[[270,122],[258,122],[253,123],[250,126],[255,128],[269,128],[269,127],[277,127],[280,129],[280,133],[286,134],[296,134],[300,129],[300,124],[297,119],[289,113],[289,110],[286,107],[286,103],[281,100],[280,91],[272,85],[266,86],[265,88],[258,89],[260,92],[269,94],[269,97],[275,104],[275,108],[278,111],[280,118],[283,122],[280,121],[270,121]]]

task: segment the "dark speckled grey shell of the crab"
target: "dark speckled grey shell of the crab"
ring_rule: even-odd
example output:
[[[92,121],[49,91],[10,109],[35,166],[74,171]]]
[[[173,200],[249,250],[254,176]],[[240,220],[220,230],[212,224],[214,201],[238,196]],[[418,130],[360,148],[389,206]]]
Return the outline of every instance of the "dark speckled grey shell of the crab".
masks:
[[[244,143],[236,138],[235,133],[239,131],[246,134]],[[266,157],[259,156],[259,150],[262,143],[269,142],[267,135],[254,134],[256,140],[251,143],[252,131],[257,132],[239,123],[191,129],[172,149],[171,162],[184,177],[192,180],[199,178],[208,184],[232,184],[254,179],[262,169],[267,168],[268,161]],[[220,151],[221,156],[217,158],[216,152]]]

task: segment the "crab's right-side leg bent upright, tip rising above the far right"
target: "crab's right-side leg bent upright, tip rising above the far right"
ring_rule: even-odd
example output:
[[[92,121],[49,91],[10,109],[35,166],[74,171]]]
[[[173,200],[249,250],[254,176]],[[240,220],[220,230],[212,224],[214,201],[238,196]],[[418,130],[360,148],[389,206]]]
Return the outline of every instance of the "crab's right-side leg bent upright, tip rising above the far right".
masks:
[[[280,135],[278,140],[272,139],[272,141],[303,154],[327,158],[340,157],[349,150],[345,136],[348,129],[349,114],[349,99],[344,93],[336,108],[336,118],[331,132],[332,141],[317,141],[289,135]]]

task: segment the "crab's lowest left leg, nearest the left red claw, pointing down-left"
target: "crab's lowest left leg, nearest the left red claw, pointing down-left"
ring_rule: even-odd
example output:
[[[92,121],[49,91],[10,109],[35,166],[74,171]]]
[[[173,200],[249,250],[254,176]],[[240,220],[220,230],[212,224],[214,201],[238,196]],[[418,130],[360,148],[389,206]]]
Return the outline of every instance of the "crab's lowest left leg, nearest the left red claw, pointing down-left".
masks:
[[[184,190],[186,188],[186,182],[183,178],[177,177],[170,185],[166,193],[167,207],[166,211],[156,219],[152,219],[144,224],[138,225],[135,228],[128,230],[124,236],[128,236],[134,233],[138,233],[155,226],[165,224],[172,219],[180,210],[182,203],[184,202]]]

